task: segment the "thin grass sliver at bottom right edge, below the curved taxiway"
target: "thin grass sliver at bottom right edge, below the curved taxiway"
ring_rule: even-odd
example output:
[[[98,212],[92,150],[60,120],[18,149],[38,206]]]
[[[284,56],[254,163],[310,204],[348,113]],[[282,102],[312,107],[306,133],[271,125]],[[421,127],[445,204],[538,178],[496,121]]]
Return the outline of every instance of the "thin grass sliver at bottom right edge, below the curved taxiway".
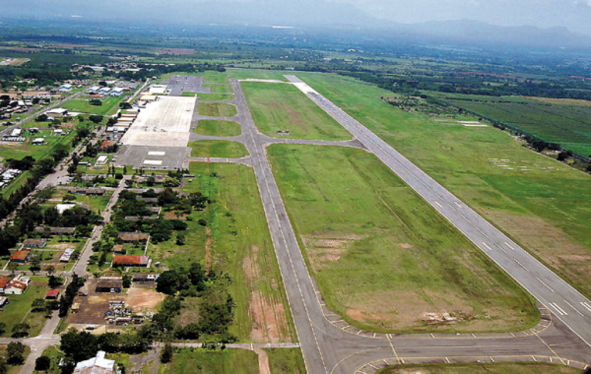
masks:
[[[580,369],[544,363],[396,365],[376,374],[579,374]]]

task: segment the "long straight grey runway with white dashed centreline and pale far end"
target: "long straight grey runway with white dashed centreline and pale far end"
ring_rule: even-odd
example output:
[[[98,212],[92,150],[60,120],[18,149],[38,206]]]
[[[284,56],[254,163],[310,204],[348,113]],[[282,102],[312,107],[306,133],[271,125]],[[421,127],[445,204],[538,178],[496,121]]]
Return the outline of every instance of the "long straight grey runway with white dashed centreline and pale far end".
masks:
[[[429,177],[342,109],[296,76],[285,76],[343,125],[384,164],[446,217],[482,252],[529,291],[587,345],[591,343],[591,301],[519,247],[478,213]]]

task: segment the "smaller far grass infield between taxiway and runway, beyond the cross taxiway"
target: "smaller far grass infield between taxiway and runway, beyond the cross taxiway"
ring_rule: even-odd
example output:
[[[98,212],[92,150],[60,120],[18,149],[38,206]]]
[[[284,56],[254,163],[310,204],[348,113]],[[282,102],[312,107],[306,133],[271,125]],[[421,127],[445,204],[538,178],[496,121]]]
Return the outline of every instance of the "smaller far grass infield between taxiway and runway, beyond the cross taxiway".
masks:
[[[287,138],[347,140],[351,134],[292,84],[242,82],[258,129],[271,136],[289,130]]]

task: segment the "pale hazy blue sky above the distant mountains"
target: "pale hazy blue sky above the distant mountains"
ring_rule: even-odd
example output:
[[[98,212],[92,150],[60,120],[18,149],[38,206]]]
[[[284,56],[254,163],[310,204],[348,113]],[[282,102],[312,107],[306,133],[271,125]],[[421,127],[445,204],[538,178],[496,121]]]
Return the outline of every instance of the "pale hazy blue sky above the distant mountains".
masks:
[[[0,0],[0,9],[9,16],[82,15],[136,22],[160,18],[167,22],[320,24],[326,19],[328,23],[371,25],[371,18],[402,23],[475,19],[495,25],[563,26],[591,35],[591,0]]]

